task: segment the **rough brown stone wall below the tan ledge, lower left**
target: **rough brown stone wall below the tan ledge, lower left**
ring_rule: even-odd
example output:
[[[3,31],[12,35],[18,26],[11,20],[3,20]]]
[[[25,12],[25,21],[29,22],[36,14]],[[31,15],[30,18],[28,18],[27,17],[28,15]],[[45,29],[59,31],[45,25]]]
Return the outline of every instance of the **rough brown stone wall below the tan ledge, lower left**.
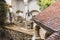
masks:
[[[10,30],[0,29],[0,40],[31,40],[31,35]]]

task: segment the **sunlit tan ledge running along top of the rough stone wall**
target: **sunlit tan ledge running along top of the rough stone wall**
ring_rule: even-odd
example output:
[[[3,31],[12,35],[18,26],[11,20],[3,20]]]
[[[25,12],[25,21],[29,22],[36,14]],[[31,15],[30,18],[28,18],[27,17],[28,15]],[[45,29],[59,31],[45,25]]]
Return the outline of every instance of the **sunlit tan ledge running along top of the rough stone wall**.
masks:
[[[7,27],[6,28],[8,29],[11,29],[11,30],[15,30],[15,31],[19,31],[19,32],[22,32],[22,33],[26,33],[26,34],[29,34],[29,35],[33,35],[34,34],[34,29],[25,29],[25,28],[22,28],[22,27]]]

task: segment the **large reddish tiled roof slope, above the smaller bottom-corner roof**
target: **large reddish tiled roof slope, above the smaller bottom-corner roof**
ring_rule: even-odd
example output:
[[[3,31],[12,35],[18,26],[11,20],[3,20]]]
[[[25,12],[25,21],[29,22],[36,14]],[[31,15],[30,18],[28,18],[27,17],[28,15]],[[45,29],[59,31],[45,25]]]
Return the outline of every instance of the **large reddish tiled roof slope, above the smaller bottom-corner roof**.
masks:
[[[47,30],[60,30],[60,0],[36,15],[34,20],[45,25],[43,28],[47,28]]]

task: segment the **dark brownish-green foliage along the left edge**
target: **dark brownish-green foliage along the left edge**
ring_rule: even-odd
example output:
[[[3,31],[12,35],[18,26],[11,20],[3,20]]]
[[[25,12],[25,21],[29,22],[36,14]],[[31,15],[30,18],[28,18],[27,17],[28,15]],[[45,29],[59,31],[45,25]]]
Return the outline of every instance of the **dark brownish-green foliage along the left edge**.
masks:
[[[6,21],[7,6],[5,0],[0,0],[0,25]]]

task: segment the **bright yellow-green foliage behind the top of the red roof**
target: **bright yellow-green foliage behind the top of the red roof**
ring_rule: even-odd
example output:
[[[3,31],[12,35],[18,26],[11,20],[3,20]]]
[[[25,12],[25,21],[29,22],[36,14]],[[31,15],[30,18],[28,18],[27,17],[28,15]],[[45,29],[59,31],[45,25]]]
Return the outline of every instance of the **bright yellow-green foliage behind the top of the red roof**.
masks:
[[[38,0],[38,5],[40,6],[40,10],[44,10],[54,2],[55,0]]]

